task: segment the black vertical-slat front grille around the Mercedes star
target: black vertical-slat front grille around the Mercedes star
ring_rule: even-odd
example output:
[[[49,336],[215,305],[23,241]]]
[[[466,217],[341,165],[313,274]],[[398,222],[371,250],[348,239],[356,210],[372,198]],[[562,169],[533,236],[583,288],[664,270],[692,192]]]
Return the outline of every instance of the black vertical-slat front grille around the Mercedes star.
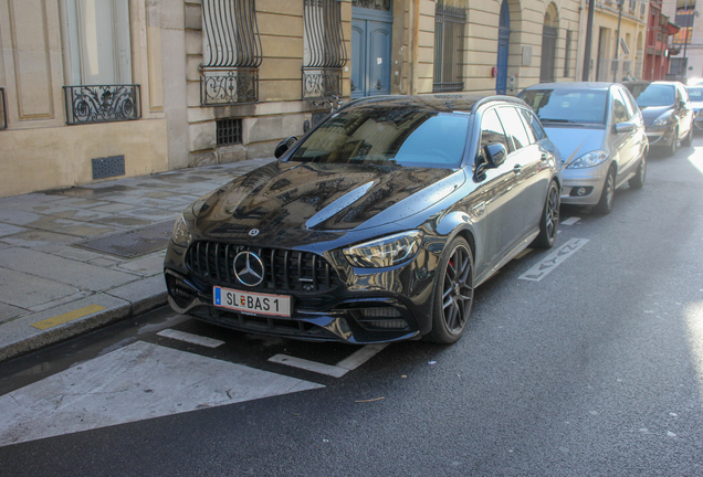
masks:
[[[339,285],[329,263],[311,252],[254,247],[219,242],[195,242],[186,255],[186,264],[196,276],[212,285],[242,288],[232,265],[240,252],[253,252],[264,264],[263,282],[248,289],[277,293],[328,292]]]

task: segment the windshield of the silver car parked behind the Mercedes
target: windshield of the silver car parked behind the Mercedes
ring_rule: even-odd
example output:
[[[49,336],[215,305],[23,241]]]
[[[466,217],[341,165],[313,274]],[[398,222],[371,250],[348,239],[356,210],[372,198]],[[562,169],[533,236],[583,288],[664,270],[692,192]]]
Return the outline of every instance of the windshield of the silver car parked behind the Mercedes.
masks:
[[[543,123],[606,124],[605,89],[527,89],[521,97]]]

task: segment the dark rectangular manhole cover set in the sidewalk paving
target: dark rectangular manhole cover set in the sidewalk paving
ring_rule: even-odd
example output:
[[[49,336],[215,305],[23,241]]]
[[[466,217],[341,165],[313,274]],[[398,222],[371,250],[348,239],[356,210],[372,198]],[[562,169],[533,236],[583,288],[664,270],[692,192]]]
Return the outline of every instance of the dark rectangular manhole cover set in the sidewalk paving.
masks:
[[[174,221],[159,222],[128,232],[119,232],[75,243],[73,246],[94,252],[135,258],[166,248],[174,231]]]

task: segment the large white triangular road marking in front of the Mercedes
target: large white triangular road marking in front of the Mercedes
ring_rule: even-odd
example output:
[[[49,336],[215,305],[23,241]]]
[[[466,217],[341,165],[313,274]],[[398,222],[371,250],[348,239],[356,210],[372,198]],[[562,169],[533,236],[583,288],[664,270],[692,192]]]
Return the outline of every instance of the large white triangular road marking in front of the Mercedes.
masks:
[[[0,446],[318,388],[137,341],[0,396]]]

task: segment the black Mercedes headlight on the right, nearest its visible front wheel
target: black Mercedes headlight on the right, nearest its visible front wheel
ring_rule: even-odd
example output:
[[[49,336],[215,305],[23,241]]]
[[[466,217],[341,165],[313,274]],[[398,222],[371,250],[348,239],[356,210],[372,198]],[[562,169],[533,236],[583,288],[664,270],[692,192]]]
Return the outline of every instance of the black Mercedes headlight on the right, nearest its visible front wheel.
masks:
[[[421,241],[420,231],[402,232],[345,248],[344,255],[361,268],[389,267],[412,258]]]

